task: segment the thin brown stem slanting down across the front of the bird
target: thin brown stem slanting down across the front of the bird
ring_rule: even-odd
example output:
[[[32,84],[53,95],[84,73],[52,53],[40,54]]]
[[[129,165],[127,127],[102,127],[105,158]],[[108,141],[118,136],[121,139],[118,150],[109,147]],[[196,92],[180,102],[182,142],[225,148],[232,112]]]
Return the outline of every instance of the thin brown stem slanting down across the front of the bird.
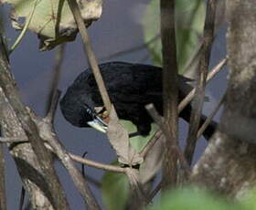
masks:
[[[75,1],[75,0],[68,0],[68,3],[69,3],[70,10],[75,18],[75,21],[79,27],[80,36],[83,41],[83,48],[84,48],[84,51],[86,52],[86,55],[88,57],[88,60],[89,60],[89,63],[90,63],[90,66],[91,66],[91,69],[92,69],[92,72],[94,75],[94,78],[95,78],[98,88],[100,90],[101,98],[103,100],[104,106],[105,106],[106,110],[110,113],[111,109],[112,109],[111,100],[110,100],[109,94],[107,92],[107,89],[104,85],[104,81],[101,76],[101,71],[98,66],[97,59],[92,51],[90,37],[88,36],[87,29],[84,26],[83,19],[80,15],[79,5],[78,5],[77,1]]]

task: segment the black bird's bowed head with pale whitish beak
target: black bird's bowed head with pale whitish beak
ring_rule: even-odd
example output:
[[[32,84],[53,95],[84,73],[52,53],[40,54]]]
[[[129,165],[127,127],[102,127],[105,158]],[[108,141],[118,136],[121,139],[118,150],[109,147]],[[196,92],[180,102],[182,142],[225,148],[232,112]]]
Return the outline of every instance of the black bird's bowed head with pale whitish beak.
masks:
[[[95,110],[95,104],[88,96],[66,94],[60,100],[60,110],[65,119],[77,127],[89,127],[101,131],[107,131],[107,123],[104,122]]]

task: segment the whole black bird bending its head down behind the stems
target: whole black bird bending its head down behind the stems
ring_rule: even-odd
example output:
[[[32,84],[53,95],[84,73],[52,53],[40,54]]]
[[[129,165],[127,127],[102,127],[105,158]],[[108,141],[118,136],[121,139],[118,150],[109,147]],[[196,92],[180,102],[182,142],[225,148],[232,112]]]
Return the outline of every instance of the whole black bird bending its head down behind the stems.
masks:
[[[103,63],[99,67],[119,118],[132,121],[140,135],[147,135],[151,131],[153,120],[144,106],[153,103],[156,110],[163,115],[162,68],[126,62]],[[191,79],[183,76],[179,76],[178,79],[179,100],[182,100],[192,89],[187,84]],[[99,111],[99,107],[102,106],[101,95],[91,68],[80,73],[60,100],[60,109],[72,125],[90,125],[105,131],[107,124],[102,117],[104,110]],[[189,121],[191,109],[191,106],[187,105],[179,116]],[[201,124],[205,120],[206,117],[202,116]],[[212,122],[204,132],[206,138],[209,138],[215,129],[216,123]]]

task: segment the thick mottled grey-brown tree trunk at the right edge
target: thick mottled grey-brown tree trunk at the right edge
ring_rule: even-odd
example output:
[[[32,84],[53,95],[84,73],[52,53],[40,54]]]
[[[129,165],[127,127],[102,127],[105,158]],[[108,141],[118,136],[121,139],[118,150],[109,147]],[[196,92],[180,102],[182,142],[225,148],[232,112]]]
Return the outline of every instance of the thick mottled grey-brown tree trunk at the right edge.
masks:
[[[192,181],[230,197],[256,182],[256,5],[226,0],[229,86],[219,131],[193,170]]]

